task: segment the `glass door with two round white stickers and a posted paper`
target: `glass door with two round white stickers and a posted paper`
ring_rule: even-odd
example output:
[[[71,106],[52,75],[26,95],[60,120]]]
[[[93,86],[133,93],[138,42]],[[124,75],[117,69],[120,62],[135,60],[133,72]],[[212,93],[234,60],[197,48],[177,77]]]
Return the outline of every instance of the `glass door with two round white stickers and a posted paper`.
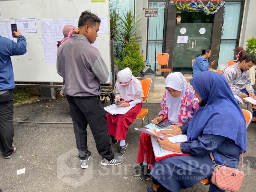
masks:
[[[203,11],[179,11],[181,23],[175,26],[173,71],[192,73],[191,61],[210,47],[213,15]]]

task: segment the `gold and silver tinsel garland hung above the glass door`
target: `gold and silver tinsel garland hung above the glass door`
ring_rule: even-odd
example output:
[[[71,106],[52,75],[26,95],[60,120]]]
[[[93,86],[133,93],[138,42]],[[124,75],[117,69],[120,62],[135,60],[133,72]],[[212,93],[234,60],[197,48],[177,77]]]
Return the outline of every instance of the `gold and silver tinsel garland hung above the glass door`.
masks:
[[[171,0],[171,5],[174,5],[175,0]],[[177,7],[178,10],[190,10],[190,11],[196,11],[198,9],[201,9],[202,11],[205,12],[206,15],[209,14],[215,14],[217,11],[219,11],[222,7],[224,7],[224,12],[223,12],[223,19],[222,19],[222,28],[221,28],[221,35],[223,35],[224,31],[224,19],[225,19],[225,13],[226,13],[226,6],[225,6],[225,1],[217,1],[216,5],[211,3],[209,1],[206,5],[202,2],[202,0],[196,0],[196,1],[190,1],[190,2],[184,2],[184,0],[181,1],[175,1],[175,6]],[[214,0],[212,0],[214,1]],[[178,22],[177,22],[178,23]]]

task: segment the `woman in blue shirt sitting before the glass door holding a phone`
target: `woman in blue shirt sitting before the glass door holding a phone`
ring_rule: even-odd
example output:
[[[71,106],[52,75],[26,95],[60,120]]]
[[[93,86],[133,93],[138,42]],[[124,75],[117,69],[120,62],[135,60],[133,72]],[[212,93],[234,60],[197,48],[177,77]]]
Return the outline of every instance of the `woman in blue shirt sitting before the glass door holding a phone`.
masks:
[[[211,50],[208,48],[203,49],[202,53],[196,56],[195,61],[193,63],[193,77],[196,77],[203,71],[208,71],[209,68],[211,68],[211,66],[215,64],[214,61],[211,62],[211,64],[209,64],[208,58],[210,58],[210,56]]]

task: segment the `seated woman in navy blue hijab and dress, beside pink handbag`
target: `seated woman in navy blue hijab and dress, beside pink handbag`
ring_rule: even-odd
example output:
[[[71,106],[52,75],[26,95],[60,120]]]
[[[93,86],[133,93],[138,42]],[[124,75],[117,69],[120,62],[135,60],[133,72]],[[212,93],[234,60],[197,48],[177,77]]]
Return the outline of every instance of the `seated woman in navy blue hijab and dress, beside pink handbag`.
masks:
[[[239,156],[246,150],[246,124],[226,79],[204,71],[190,80],[199,99],[199,108],[191,120],[180,128],[161,131],[173,135],[187,134],[188,142],[160,140],[161,147],[190,154],[173,156],[154,163],[151,175],[154,190],[177,192],[188,188],[213,173],[210,153],[217,164],[237,168]],[[209,191],[224,192],[210,184]]]

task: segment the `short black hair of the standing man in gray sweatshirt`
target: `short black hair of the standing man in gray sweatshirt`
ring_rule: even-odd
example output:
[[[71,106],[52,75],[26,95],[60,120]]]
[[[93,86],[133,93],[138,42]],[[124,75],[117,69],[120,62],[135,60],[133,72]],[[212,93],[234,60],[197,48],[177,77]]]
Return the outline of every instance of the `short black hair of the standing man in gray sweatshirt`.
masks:
[[[95,23],[100,23],[100,18],[90,11],[83,11],[78,20],[78,27],[85,25],[95,26]]]

